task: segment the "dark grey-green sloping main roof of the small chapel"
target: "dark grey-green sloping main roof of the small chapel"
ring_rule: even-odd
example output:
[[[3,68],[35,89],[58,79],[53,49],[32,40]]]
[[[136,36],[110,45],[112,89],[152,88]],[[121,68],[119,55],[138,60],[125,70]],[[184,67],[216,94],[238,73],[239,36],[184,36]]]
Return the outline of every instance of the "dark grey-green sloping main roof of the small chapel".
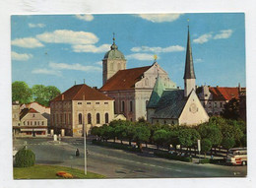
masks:
[[[187,98],[184,97],[183,90],[164,91],[158,102],[154,118],[179,118]]]

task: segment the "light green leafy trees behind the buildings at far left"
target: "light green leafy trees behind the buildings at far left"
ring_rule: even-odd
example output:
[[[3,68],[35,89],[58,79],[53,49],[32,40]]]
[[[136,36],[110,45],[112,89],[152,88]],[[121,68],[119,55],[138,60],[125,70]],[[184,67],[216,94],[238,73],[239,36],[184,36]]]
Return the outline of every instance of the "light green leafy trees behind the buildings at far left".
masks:
[[[16,81],[12,84],[12,101],[29,103],[36,101],[44,106],[49,106],[49,101],[60,94],[54,86],[33,85],[32,88],[26,82]]]

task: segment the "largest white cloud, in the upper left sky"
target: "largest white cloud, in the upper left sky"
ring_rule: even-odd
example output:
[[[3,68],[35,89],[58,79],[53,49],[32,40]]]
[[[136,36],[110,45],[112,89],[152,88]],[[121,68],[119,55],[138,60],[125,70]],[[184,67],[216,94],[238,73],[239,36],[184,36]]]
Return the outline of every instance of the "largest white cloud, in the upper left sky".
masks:
[[[56,30],[37,34],[36,38],[49,43],[94,44],[98,41],[96,34],[85,31]]]

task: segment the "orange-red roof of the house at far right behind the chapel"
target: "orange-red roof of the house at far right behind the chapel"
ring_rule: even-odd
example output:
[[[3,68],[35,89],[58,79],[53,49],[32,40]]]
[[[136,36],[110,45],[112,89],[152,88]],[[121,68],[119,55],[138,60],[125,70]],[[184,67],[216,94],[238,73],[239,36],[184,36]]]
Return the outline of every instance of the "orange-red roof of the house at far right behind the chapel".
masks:
[[[233,97],[236,99],[239,97],[238,88],[210,87],[209,90],[213,94],[214,100],[230,100]]]

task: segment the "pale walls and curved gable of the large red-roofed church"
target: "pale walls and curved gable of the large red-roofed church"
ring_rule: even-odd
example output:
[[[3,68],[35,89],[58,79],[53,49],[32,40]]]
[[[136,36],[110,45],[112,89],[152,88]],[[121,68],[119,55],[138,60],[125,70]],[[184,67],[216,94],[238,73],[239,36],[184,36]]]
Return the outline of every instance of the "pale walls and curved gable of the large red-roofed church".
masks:
[[[131,71],[133,70],[131,69]],[[125,80],[125,76],[126,74],[121,78],[113,77],[113,79]],[[155,62],[146,71],[142,72],[140,79],[134,83],[132,88],[106,90],[107,86],[103,86],[100,92],[114,99],[115,114],[123,114],[127,120],[131,121],[136,121],[140,117],[147,119],[146,107],[158,76],[162,79],[164,87],[176,88],[176,84],[169,79],[168,74]]]

